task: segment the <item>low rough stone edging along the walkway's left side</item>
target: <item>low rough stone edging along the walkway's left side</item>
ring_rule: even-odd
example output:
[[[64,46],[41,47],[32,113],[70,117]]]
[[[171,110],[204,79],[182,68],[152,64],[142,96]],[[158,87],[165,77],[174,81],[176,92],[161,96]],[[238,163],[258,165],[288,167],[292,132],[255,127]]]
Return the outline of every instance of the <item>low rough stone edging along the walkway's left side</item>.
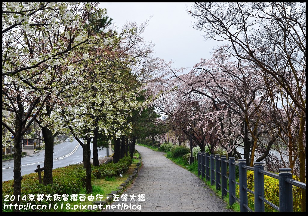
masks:
[[[141,155],[140,155],[140,153],[139,153],[138,159],[139,159],[139,162],[136,164],[136,167],[134,168],[132,175],[129,175],[128,178],[124,181],[124,183],[120,184],[120,186],[117,187],[118,190],[112,190],[109,194],[107,194],[109,196],[108,199],[105,199],[103,201],[95,201],[93,203],[96,204],[96,205],[99,205],[99,204],[107,205],[108,203],[111,203],[112,198],[113,198],[113,194],[121,195],[122,192],[125,190],[126,186],[128,185],[128,183],[130,183],[133,179],[136,178],[136,175],[137,175],[139,168],[140,168],[140,165],[141,165]]]

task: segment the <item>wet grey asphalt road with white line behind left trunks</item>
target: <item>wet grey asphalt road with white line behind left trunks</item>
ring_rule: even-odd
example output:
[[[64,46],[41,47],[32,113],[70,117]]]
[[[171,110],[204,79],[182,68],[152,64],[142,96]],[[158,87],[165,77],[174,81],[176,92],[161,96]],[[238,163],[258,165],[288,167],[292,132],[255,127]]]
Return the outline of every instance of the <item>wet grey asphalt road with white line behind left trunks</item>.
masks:
[[[44,167],[45,150],[21,158],[21,174],[34,173],[37,166]],[[93,156],[91,146],[91,157]],[[98,151],[99,157],[106,156],[106,150]],[[83,149],[75,140],[64,142],[54,146],[53,169],[65,167],[70,164],[78,164],[83,161]],[[14,160],[2,161],[2,182],[13,179]]]

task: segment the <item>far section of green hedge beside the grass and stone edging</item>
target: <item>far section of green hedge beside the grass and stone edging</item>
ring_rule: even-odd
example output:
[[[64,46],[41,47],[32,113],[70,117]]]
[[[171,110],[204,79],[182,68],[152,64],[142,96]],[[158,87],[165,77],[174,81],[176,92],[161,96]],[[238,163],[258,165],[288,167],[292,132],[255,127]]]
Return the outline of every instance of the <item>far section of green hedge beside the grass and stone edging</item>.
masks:
[[[93,167],[92,174],[97,178],[118,176],[120,173],[127,171],[132,164],[131,157],[124,157],[118,163],[102,164],[99,167]]]

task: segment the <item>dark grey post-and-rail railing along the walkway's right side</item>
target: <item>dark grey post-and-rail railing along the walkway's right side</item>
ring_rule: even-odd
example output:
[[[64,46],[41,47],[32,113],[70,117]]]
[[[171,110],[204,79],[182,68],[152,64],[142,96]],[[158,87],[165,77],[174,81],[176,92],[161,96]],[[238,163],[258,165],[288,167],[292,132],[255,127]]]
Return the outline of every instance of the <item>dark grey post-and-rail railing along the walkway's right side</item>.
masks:
[[[290,168],[280,168],[279,174],[264,170],[263,162],[254,162],[254,166],[246,165],[245,159],[239,159],[235,163],[235,157],[214,155],[205,152],[198,152],[198,176],[205,178],[211,185],[215,185],[216,190],[221,190],[221,198],[225,198],[229,193],[229,204],[236,201],[240,204],[240,211],[253,211],[248,206],[248,192],[254,195],[254,211],[264,212],[265,203],[280,212],[293,211],[293,191],[292,186],[306,190],[306,183],[292,179]],[[229,166],[229,176],[227,176],[227,166]],[[238,166],[239,176],[236,181],[235,169]],[[254,191],[247,187],[247,170],[254,171]],[[264,197],[264,175],[279,180],[279,207],[265,199]],[[229,179],[229,190],[228,190]],[[236,185],[239,186],[239,198],[236,197]]]

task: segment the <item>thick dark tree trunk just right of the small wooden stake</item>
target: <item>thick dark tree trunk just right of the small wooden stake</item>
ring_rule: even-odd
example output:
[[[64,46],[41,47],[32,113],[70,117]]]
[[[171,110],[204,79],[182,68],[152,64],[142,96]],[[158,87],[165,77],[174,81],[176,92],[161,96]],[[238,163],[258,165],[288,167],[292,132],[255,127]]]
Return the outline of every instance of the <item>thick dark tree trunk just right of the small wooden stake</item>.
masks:
[[[47,126],[42,127],[42,134],[45,142],[45,159],[44,159],[44,176],[43,184],[52,184],[52,166],[53,166],[53,155],[54,155],[54,137],[51,129]]]

